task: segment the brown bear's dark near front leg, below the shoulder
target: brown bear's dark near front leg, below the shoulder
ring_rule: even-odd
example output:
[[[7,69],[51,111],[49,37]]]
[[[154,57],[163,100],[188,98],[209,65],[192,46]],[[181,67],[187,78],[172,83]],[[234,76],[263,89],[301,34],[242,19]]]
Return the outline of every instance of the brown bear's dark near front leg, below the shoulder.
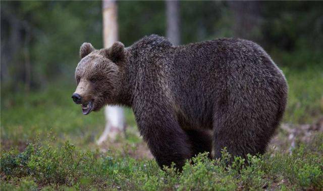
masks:
[[[171,114],[147,111],[149,109],[135,114],[138,129],[150,152],[161,168],[174,162],[181,170],[186,159],[192,156],[188,136]]]

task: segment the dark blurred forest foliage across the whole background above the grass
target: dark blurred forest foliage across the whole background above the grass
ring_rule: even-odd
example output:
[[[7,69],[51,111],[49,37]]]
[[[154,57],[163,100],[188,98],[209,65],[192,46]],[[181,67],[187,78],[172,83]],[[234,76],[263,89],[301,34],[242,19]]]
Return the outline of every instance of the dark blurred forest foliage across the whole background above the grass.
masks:
[[[129,46],[144,35],[165,35],[165,7],[163,1],[118,2],[120,41]],[[182,1],[181,41],[247,38],[273,53],[280,66],[322,65],[322,8],[322,2],[307,1]],[[2,89],[44,88],[62,78],[74,83],[79,46],[88,41],[102,47],[101,12],[99,1],[2,1]],[[304,57],[280,59],[286,52]]]

